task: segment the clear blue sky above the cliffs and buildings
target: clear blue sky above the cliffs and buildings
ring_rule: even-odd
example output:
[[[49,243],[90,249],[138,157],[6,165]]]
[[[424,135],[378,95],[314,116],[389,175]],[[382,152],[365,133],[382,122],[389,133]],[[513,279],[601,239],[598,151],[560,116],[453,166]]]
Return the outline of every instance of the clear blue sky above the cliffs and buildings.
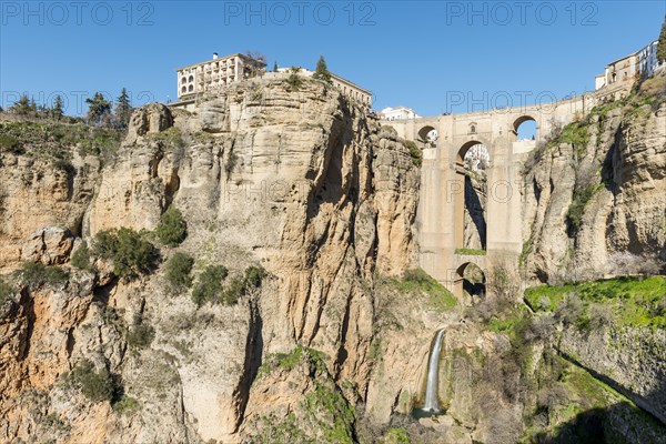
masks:
[[[658,1],[0,1],[0,105],[94,91],[175,98],[178,67],[258,50],[331,71],[374,108],[422,115],[548,101],[594,89],[605,64],[659,33]],[[509,103],[511,101],[511,103]]]

